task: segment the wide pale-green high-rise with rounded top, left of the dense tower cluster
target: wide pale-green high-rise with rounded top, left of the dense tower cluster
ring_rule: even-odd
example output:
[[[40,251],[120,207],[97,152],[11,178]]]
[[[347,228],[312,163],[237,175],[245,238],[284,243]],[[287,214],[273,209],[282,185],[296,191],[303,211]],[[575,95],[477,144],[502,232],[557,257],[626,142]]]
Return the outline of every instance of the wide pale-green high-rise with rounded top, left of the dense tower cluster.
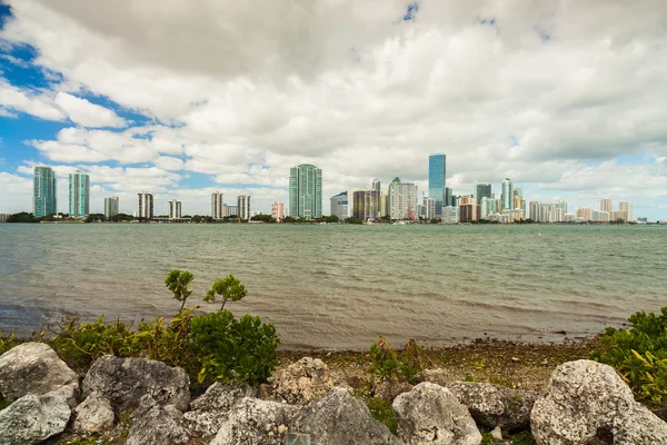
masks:
[[[301,164],[290,169],[289,215],[303,219],[322,216],[322,170],[316,166]]]

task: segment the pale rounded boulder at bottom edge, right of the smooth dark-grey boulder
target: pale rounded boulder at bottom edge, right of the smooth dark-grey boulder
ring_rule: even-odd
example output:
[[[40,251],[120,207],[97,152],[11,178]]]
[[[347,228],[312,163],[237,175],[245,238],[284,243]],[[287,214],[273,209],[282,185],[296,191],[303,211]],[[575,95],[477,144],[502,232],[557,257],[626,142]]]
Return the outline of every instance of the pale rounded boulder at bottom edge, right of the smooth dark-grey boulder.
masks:
[[[479,445],[481,434],[451,392],[432,383],[420,383],[394,400],[398,436],[406,445]]]

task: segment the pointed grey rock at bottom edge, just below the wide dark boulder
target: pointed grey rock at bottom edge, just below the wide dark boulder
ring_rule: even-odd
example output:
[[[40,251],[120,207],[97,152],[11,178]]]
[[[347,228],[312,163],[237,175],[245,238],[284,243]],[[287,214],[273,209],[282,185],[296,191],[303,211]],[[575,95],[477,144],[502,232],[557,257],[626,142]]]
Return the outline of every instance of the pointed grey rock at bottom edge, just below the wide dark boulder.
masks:
[[[127,445],[176,445],[190,439],[188,432],[173,418],[178,412],[173,405],[162,406],[150,395],[145,395],[132,413],[135,423],[128,434]]]

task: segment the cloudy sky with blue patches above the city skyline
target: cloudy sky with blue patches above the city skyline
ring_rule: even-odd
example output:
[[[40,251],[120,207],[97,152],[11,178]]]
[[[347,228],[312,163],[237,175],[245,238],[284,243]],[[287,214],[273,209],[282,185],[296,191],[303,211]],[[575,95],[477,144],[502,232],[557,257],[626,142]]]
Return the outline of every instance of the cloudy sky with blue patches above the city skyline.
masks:
[[[31,210],[34,165],[91,177],[91,211],[138,191],[287,201],[374,178],[455,194],[509,177],[570,210],[667,217],[664,0],[0,0],[0,212]],[[615,205],[616,207],[616,205]]]

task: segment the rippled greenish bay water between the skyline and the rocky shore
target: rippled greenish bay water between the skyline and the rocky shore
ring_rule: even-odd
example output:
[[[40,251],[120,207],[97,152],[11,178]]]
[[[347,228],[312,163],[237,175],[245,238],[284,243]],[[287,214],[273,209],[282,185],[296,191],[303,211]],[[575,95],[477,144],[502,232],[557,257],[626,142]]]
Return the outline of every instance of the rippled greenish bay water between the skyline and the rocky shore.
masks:
[[[181,268],[208,312],[212,281],[237,276],[249,294],[228,308],[289,348],[551,342],[667,306],[666,246],[666,228],[640,226],[2,224],[0,329],[172,315],[163,279]]]

